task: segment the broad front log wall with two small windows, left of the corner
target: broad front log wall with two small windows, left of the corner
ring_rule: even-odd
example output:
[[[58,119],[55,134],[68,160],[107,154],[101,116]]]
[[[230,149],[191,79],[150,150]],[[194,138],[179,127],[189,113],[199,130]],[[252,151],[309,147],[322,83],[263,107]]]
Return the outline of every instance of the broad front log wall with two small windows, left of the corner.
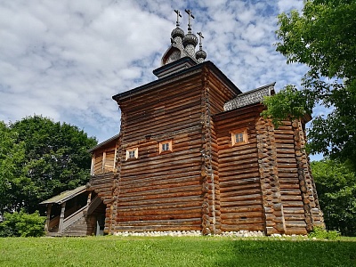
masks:
[[[115,231],[201,230],[200,75],[120,101]],[[172,150],[159,153],[159,142]],[[125,150],[138,149],[126,159]]]

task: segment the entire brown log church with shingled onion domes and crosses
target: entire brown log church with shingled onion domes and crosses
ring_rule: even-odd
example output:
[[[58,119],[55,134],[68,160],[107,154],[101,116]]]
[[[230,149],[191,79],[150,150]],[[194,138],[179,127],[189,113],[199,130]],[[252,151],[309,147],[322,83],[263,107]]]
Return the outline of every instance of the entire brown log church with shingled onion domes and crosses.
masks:
[[[187,34],[175,12],[171,46],[153,71],[158,79],[112,97],[121,109],[120,133],[91,150],[86,187],[42,203],[49,207],[47,232],[271,235],[322,225],[304,150],[310,117],[273,127],[260,114],[274,84],[242,93],[205,61],[201,33],[196,51],[191,12]]]

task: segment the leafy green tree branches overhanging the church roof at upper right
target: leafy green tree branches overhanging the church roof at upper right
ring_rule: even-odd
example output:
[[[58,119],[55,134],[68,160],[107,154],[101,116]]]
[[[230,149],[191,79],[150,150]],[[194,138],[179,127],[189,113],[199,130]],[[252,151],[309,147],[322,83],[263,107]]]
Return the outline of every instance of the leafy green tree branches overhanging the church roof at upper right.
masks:
[[[267,98],[264,117],[302,117],[316,104],[332,111],[309,129],[312,153],[349,161],[356,169],[356,2],[307,0],[303,12],[279,14],[277,51],[310,69],[302,90],[292,85]],[[273,100],[273,98],[275,98]],[[278,106],[283,107],[280,108]]]

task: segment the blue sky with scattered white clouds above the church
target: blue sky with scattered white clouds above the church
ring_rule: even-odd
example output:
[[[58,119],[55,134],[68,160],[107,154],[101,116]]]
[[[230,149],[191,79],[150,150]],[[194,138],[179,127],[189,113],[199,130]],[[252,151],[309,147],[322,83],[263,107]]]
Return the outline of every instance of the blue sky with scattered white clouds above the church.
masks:
[[[306,67],[287,65],[273,44],[277,15],[302,7],[303,0],[0,0],[0,120],[42,115],[99,142],[118,134],[111,96],[157,79],[174,9],[185,32],[191,10],[206,61],[242,92],[300,85]]]

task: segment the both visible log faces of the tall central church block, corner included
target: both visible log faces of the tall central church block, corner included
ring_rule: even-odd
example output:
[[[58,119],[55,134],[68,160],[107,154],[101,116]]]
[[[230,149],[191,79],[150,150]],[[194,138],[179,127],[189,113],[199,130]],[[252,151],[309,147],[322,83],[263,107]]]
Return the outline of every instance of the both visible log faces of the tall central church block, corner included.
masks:
[[[115,231],[220,232],[212,115],[235,96],[207,69],[118,101],[122,151]],[[159,142],[172,151],[159,153]],[[125,150],[138,149],[126,160]]]

